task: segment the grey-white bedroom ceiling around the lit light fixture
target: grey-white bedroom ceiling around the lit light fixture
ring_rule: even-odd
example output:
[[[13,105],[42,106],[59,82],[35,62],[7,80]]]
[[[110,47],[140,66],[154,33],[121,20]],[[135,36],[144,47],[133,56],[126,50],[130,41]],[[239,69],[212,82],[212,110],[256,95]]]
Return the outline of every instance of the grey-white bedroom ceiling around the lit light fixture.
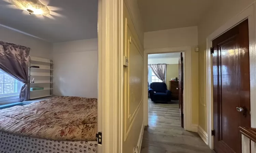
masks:
[[[29,15],[0,0],[0,24],[48,42],[97,38],[97,0],[40,0],[51,15]]]

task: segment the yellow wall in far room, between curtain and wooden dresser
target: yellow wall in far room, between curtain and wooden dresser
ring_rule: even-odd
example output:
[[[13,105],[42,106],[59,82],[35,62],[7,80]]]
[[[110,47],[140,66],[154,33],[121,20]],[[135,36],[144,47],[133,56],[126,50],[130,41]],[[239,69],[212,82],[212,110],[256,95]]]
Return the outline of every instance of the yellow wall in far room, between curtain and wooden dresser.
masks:
[[[169,81],[172,78],[179,78],[179,64],[167,64],[166,65],[166,85],[169,90]]]

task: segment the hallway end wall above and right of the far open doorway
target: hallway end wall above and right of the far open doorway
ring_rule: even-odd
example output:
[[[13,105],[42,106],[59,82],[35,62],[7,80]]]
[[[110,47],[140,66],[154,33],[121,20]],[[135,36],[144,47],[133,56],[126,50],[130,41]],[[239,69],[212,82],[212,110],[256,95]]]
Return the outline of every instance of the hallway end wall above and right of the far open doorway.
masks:
[[[198,52],[195,52],[195,48],[197,48],[198,45],[197,34],[198,31],[196,26],[144,33],[145,50],[186,46],[191,48],[191,123],[194,125],[194,127],[198,125],[199,106]]]

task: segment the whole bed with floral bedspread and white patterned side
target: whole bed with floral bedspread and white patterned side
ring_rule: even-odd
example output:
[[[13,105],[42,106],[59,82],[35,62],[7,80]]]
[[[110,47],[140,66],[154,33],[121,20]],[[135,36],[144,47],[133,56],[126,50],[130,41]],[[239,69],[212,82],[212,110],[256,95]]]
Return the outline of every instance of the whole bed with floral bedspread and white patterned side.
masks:
[[[97,99],[54,97],[0,110],[0,153],[96,153]]]

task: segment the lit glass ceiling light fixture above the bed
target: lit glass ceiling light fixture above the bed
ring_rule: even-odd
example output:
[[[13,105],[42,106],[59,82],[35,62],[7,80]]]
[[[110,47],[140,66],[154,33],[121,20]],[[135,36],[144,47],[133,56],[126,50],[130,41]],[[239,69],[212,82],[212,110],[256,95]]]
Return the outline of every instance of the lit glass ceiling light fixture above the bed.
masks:
[[[29,14],[47,15],[50,10],[39,0],[9,0],[10,3],[16,5],[19,9],[27,11]]]

